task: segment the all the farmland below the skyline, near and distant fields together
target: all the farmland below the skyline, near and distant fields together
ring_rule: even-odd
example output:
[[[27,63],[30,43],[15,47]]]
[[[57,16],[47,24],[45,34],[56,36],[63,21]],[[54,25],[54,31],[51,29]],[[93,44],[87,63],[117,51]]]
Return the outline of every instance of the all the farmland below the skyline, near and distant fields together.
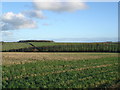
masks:
[[[118,45],[3,42],[2,88],[118,88]]]

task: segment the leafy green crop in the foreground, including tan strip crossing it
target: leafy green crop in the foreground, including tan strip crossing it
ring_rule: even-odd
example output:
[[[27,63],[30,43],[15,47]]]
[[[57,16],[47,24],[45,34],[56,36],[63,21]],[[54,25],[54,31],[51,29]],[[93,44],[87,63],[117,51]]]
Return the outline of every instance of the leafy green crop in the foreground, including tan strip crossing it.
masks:
[[[96,88],[119,81],[117,57],[37,61],[3,66],[3,71],[3,88]]]

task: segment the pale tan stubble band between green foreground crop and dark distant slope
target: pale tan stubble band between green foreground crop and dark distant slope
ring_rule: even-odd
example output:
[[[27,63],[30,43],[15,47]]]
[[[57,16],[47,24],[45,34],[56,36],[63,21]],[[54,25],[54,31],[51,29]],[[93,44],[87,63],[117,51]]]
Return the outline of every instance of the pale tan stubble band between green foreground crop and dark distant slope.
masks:
[[[24,64],[39,60],[86,60],[104,57],[118,57],[118,53],[21,53],[3,52],[2,64]]]

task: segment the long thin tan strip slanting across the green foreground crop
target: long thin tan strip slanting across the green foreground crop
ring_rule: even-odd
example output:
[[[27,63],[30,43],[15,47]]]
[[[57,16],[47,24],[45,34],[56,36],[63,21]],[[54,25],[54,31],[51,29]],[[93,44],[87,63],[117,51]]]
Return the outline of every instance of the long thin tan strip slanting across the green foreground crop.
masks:
[[[113,64],[114,65],[114,64]],[[112,64],[107,64],[107,65],[100,65],[100,66],[93,66],[93,67],[86,67],[86,68],[75,68],[75,69],[65,69],[65,70],[61,70],[61,71],[57,71],[57,70],[54,70],[52,72],[44,72],[44,73],[40,73],[40,72],[26,72],[26,70],[23,70],[25,72],[22,72],[21,75],[18,75],[18,76],[11,76],[10,78],[8,77],[5,77],[3,78],[3,80],[12,80],[12,79],[18,79],[18,78],[25,78],[25,77],[30,77],[30,76],[45,76],[45,75],[49,75],[49,74],[60,74],[60,73],[65,73],[65,72],[73,72],[73,71],[82,71],[82,70],[92,70],[94,68],[100,68],[100,69],[97,69],[97,71],[100,71],[101,70],[104,70],[102,72],[105,72],[108,70],[109,66],[112,66]],[[106,68],[107,67],[107,68]],[[106,69],[105,69],[106,68]],[[111,67],[110,67],[111,68]],[[116,66],[115,67],[112,67],[112,68],[117,68]],[[94,69],[96,71],[96,69]],[[113,70],[113,69],[112,69]],[[8,74],[9,75],[9,74]]]

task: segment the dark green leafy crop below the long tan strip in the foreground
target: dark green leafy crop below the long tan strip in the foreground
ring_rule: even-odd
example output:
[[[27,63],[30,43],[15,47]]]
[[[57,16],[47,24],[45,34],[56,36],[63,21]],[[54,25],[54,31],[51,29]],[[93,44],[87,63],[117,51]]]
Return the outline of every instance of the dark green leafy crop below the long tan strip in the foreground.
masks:
[[[42,87],[71,87],[71,88],[88,88],[98,87],[101,81],[106,81],[108,84],[104,83],[106,86],[111,85],[114,80],[118,80],[118,72],[116,69],[110,69],[108,71],[106,69],[91,69],[91,70],[82,70],[82,71],[73,71],[73,72],[63,72],[59,74],[47,74],[45,76],[35,75],[33,76],[25,76],[23,78],[13,78],[11,80],[3,80],[3,87],[11,87],[11,88],[42,88]],[[113,67],[111,67],[113,68]],[[11,85],[11,83],[13,85]],[[92,85],[91,85],[92,84]],[[102,83],[103,84],[103,83]],[[102,85],[101,84],[101,85]],[[25,85],[25,86],[24,86]],[[27,86],[26,86],[27,85]],[[80,86],[78,86],[80,85]],[[105,87],[105,86],[104,86]]]

